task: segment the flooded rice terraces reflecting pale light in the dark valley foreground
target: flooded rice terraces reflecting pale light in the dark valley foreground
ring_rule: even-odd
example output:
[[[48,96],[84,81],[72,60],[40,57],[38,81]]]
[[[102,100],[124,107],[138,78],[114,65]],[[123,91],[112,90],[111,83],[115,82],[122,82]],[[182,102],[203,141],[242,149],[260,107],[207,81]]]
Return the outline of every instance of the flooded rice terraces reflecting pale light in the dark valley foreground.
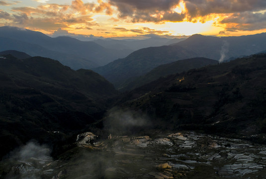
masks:
[[[266,178],[266,146],[239,139],[178,132],[110,136],[93,144],[83,139],[78,145],[84,149],[82,160],[58,161],[51,165],[54,174],[47,166],[43,172],[50,172],[54,179],[62,171],[69,179]]]

